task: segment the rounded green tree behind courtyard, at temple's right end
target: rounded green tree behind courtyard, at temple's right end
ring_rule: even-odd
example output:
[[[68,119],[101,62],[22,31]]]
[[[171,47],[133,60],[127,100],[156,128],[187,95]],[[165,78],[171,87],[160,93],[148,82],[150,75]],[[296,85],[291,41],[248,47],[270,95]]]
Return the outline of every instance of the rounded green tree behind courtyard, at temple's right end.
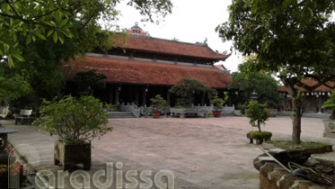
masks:
[[[279,101],[278,82],[267,73],[252,71],[248,61],[239,65],[238,72],[232,74],[233,83],[230,88],[237,88],[242,92],[242,103],[248,102],[253,90],[258,94],[258,100],[267,103],[269,107],[277,107]]]

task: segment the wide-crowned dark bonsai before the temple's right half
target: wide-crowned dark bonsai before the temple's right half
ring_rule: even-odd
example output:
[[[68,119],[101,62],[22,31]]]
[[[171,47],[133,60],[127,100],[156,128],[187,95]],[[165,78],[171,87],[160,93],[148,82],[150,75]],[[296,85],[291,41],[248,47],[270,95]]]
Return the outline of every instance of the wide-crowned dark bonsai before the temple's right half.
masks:
[[[184,77],[176,85],[172,86],[170,92],[178,96],[177,103],[181,104],[181,106],[190,106],[193,103],[194,94],[213,94],[214,89],[203,85],[197,79]]]

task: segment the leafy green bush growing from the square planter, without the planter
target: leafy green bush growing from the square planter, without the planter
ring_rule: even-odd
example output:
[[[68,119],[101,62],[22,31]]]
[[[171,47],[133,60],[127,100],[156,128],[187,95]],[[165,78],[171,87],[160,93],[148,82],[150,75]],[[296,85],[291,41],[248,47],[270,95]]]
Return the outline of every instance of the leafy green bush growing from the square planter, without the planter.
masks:
[[[40,118],[35,121],[50,135],[58,135],[66,144],[78,144],[99,138],[111,131],[107,127],[107,112],[99,99],[82,96],[77,99],[65,96],[60,101],[44,101],[40,107]]]

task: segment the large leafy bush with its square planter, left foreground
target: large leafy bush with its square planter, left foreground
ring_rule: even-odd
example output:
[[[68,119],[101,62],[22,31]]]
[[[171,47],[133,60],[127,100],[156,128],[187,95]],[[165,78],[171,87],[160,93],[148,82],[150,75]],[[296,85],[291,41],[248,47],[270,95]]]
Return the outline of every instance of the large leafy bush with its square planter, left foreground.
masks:
[[[40,107],[40,118],[35,121],[55,140],[54,162],[68,169],[71,164],[91,167],[91,141],[111,131],[107,127],[107,112],[101,102],[93,96],[75,98],[65,96],[58,102],[44,100]]]

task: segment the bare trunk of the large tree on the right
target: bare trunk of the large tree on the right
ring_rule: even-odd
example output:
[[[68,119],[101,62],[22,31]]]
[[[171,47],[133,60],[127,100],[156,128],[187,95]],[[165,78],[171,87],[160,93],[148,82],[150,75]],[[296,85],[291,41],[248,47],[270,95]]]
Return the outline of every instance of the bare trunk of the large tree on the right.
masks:
[[[297,89],[295,89],[295,78],[281,77],[281,81],[287,87],[287,93],[290,95],[290,100],[292,101],[292,144],[300,144],[301,135],[301,107],[302,102]]]

